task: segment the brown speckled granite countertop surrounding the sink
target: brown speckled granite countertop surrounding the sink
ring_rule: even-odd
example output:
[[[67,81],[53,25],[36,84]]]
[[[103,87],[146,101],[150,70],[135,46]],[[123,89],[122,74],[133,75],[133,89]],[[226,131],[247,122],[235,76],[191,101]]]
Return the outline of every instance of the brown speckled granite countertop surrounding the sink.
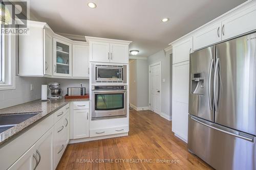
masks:
[[[10,114],[26,114],[26,113],[38,113],[35,116],[25,120],[24,122],[17,124],[16,126],[0,133],[0,148],[4,144],[10,142],[14,138],[18,137],[20,134],[26,132],[31,127],[39,123],[42,119],[51,115],[61,107],[65,106],[72,101],[89,101],[89,99],[59,99],[50,100],[48,102],[41,102],[40,100],[35,100],[32,102],[0,109],[0,118],[2,115]]]

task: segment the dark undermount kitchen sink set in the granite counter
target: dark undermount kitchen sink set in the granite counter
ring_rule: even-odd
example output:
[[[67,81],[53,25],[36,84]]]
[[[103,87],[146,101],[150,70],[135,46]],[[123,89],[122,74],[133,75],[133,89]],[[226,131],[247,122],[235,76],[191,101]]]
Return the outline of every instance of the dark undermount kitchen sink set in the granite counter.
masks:
[[[9,114],[0,116],[0,133],[16,126],[19,123],[24,122],[37,115],[38,113],[27,113],[27,114]]]

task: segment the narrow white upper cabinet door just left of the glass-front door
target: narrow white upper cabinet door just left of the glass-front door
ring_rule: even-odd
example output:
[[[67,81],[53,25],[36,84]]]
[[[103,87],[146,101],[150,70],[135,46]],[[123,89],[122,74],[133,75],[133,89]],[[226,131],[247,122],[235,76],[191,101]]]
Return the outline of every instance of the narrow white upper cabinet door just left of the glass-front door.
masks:
[[[44,29],[44,74],[52,76],[52,32]]]

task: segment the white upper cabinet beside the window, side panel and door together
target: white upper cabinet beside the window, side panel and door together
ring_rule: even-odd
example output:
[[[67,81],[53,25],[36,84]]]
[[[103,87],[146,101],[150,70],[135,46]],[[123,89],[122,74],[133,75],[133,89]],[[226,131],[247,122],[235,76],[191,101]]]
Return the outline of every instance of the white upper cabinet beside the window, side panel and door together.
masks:
[[[29,34],[19,35],[18,75],[52,75],[52,31],[45,22],[28,22]]]

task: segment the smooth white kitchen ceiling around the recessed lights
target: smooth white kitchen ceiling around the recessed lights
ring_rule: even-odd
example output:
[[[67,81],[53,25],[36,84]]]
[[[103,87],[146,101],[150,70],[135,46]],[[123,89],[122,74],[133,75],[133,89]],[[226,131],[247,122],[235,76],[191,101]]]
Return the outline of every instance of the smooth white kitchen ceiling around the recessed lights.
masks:
[[[91,9],[88,2],[97,8]],[[31,0],[31,13],[58,33],[133,41],[147,57],[245,0]],[[168,22],[161,18],[168,17]]]

